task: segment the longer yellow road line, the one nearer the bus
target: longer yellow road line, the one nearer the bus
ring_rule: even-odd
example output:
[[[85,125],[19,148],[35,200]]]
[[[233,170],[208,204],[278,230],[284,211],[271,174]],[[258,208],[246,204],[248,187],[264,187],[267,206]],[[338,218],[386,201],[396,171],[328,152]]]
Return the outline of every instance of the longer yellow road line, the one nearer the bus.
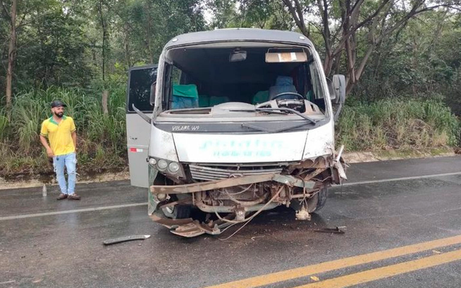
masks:
[[[254,288],[263,285],[269,285],[276,282],[282,282],[290,279],[295,279],[299,277],[305,277],[312,274],[323,273],[331,270],[337,270],[341,268],[346,268],[350,266],[366,264],[374,261],[379,261],[383,259],[389,259],[393,257],[399,257],[402,255],[408,255],[412,253],[417,253],[425,250],[434,249],[437,247],[445,247],[454,244],[461,243],[461,235],[437,239],[433,241],[427,241],[423,243],[397,247],[389,250],[378,251],[368,254],[362,254],[357,256],[352,256],[343,259],[337,259],[333,261],[323,262],[319,264],[313,264],[309,266],[304,266],[300,268],[284,270],[279,272],[274,272],[266,275],[255,276],[247,279],[237,280],[233,282],[227,282],[223,284],[218,284],[214,286],[209,286],[207,288]],[[321,253],[321,252],[320,252]]]

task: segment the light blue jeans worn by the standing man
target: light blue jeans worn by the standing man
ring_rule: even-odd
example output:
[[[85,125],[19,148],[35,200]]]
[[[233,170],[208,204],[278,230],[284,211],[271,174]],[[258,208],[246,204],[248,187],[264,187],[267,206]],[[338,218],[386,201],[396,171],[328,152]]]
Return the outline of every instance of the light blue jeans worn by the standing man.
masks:
[[[76,165],[77,157],[75,153],[53,157],[54,172],[56,172],[56,178],[62,194],[74,194],[75,182],[77,180]],[[65,182],[64,166],[67,168],[67,182],[69,182],[68,187]]]

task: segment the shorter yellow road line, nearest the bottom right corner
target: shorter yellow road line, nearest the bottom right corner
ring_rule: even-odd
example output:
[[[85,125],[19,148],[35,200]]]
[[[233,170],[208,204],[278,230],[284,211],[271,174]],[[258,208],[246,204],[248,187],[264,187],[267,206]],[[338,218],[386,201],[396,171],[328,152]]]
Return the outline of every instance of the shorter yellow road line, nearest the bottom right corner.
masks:
[[[325,281],[297,286],[295,288],[344,288],[457,260],[461,260],[461,250],[331,278]]]

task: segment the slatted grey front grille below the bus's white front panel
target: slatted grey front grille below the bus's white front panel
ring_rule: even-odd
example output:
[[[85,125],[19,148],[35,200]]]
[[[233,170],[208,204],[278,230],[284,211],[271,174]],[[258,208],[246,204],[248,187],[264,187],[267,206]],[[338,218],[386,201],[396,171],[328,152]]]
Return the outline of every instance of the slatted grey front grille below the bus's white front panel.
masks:
[[[233,169],[231,169],[233,168]],[[261,175],[261,174],[280,174],[282,172],[283,167],[277,166],[257,166],[257,167],[244,167],[243,170],[237,169],[237,167],[230,167],[228,169],[224,168],[216,168],[216,167],[209,167],[209,166],[201,166],[201,165],[189,165],[190,174],[192,178],[196,180],[219,180],[225,179],[230,177],[240,177],[240,176],[248,176],[248,175]]]

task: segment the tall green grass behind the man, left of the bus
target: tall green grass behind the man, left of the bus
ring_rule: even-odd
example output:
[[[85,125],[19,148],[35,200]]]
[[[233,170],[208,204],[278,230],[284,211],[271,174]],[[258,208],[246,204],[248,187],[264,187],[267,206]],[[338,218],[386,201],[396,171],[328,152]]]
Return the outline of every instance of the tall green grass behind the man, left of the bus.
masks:
[[[97,83],[88,89],[49,87],[19,91],[11,113],[0,110],[0,176],[52,172],[38,135],[42,121],[51,116],[50,102],[56,99],[67,104],[65,115],[71,116],[77,126],[79,173],[124,170],[125,83],[126,79],[112,79],[106,85],[108,114],[102,111],[103,86]]]

